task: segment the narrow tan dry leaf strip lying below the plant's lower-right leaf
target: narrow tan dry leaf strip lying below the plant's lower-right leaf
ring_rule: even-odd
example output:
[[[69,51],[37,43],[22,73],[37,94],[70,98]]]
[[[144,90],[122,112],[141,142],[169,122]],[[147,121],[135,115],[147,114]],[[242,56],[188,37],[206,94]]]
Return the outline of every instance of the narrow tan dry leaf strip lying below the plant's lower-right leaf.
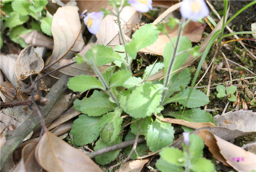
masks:
[[[171,124],[180,124],[180,125],[184,125],[189,128],[193,128],[193,129],[198,129],[198,128],[202,128],[202,127],[215,127],[215,125],[211,122],[189,122],[189,121],[185,121],[183,119],[161,118],[158,116],[156,116],[156,117],[159,120],[164,121],[164,122],[169,122]]]

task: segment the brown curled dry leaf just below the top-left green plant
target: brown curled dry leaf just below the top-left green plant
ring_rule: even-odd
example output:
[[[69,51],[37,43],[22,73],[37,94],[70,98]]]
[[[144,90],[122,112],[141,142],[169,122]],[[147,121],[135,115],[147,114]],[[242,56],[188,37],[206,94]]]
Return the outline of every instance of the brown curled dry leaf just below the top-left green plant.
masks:
[[[50,50],[53,49],[53,39],[45,36],[37,30],[34,30],[30,33],[20,35],[20,37],[27,44],[32,44],[34,47],[46,47]]]

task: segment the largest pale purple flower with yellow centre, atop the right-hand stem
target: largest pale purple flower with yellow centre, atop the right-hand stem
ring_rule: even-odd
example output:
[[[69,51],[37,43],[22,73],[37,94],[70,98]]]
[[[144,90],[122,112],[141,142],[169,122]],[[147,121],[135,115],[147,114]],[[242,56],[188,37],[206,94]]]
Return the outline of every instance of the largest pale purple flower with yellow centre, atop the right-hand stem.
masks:
[[[183,0],[180,6],[181,16],[199,20],[209,14],[209,9],[203,0]]]

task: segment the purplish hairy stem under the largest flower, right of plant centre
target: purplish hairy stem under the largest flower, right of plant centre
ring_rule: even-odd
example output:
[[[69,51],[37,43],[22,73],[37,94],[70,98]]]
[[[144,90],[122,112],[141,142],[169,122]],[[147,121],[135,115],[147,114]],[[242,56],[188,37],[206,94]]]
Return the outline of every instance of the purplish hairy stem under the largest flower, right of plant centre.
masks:
[[[169,82],[170,82],[170,79],[171,79],[170,74],[171,74],[171,71],[172,71],[172,68],[173,68],[174,58],[176,56],[178,46],[180,44],[180,37],[182,35],[182,30],[183,30],[183,27],[184,27],[183,25],[184,25],[185,20],[186,20],[185,18],[183,18],[183,17],[181,18],[181,23],[180,23],[179,30],[178,30],[177,41],[176,41],[176,45],[175,45],[174,51],[173,51],[173,57],[171,58],[171,61],[170,61],[170,64],[169,64],[169,67],[168,67],[168,70],[167,70],[167,73],[166,73],[166,78],[164,80],[164,86],[166,88],[168,88],[168,85],[169,85]],[[161,104],[163,103],[167,93],[168,93],[168,90],[163,91]]]

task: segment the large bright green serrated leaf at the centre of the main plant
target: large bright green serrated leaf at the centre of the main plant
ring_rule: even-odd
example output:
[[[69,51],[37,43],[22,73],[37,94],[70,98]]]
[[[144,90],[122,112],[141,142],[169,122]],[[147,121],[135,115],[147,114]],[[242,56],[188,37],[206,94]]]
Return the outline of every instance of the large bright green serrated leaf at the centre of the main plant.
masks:
[[[126,112],[134,118],[151,116],[160,104],[164,86],[161,84],[140,85],[129,95]]]

